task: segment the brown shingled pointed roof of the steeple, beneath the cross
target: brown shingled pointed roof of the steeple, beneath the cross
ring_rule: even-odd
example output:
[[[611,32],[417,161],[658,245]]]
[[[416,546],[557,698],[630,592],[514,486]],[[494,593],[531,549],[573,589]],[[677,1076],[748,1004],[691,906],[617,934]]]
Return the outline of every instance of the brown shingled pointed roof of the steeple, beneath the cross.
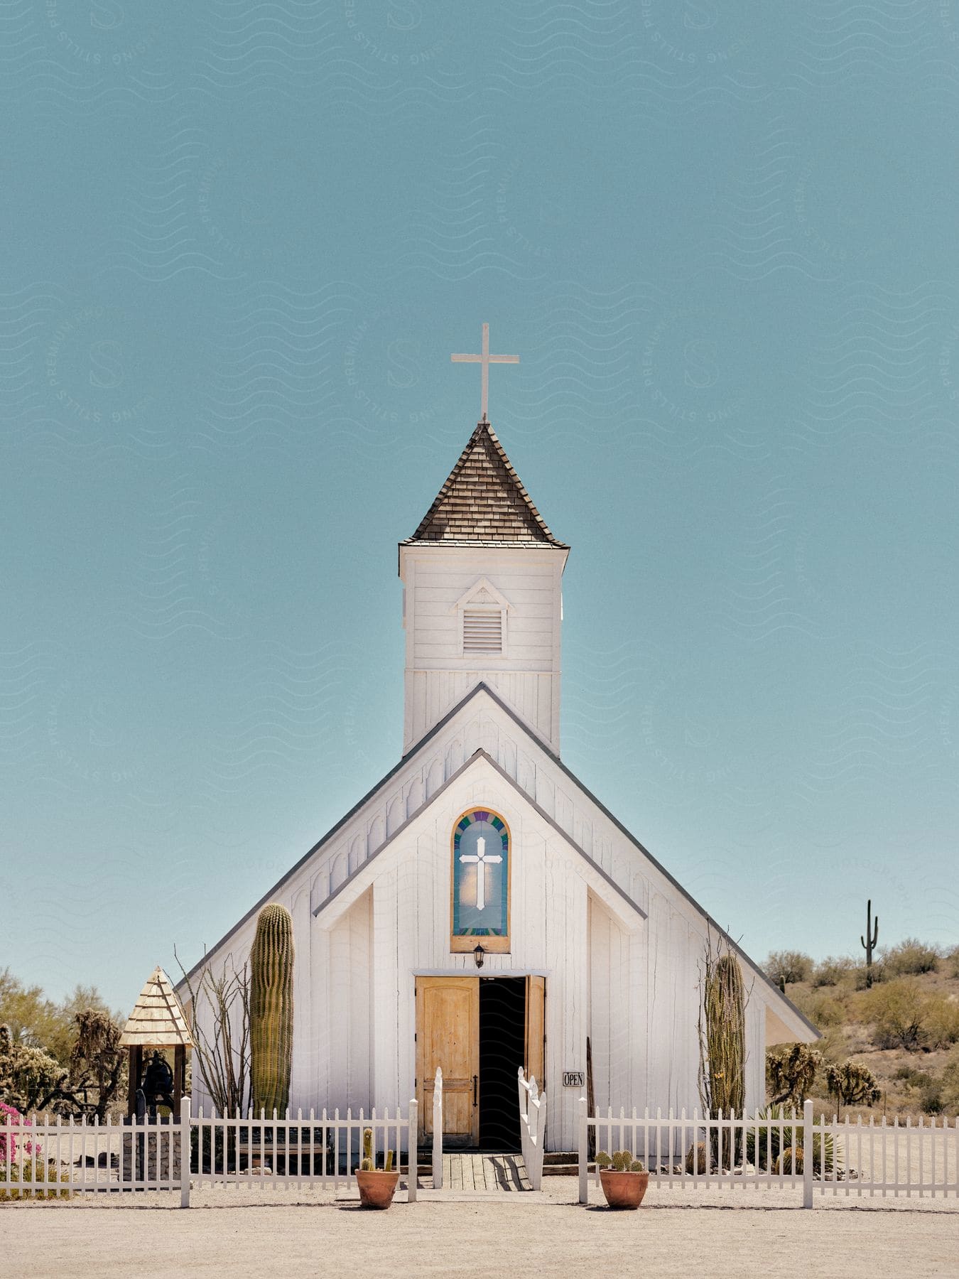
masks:
[[[402,546],[556,546],[488,422],[480,422],[419,527]]]

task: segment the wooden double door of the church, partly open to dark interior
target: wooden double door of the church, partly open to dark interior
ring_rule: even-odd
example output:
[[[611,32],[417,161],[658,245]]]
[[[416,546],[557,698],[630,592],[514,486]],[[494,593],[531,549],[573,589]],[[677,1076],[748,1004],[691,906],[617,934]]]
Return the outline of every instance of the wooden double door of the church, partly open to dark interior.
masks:
[[[444,1145],[518,1149],[517,1069],[542,1081],[543,977],[417,977],[419,1137],[433,1129],[442,1069]]]

